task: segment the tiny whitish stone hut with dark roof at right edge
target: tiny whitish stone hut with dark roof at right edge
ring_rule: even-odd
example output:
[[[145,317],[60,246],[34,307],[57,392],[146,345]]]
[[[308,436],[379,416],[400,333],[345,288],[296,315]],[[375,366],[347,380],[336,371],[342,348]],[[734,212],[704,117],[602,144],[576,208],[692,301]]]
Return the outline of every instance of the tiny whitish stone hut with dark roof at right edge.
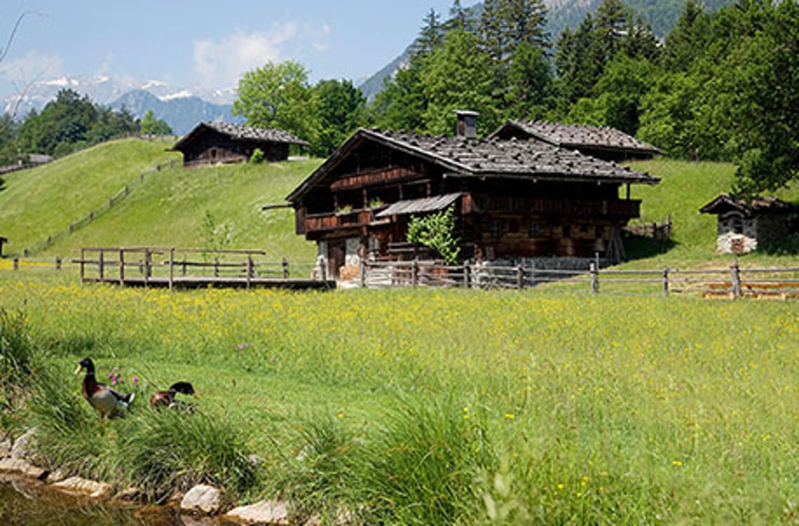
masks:
[[[744,254],[791,234],[797,210],[775,197],[735,200],[721,194],[699,212],[718,216],[717,252]]]

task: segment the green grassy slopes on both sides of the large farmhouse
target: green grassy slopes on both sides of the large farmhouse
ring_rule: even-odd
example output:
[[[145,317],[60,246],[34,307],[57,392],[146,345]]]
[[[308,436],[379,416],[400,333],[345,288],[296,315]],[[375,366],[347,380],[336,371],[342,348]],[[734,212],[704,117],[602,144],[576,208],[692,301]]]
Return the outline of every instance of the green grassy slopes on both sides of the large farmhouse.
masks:
[[[276,164],[238,164],[185,169],[170,144],[121,140],[89,148],[53,164],[15,172],[0,192],[0,235],[10,239],[6,255],[21,255],[48,236],[50,247],[30,255],[73,258],[81,247],[170,246],[258,249],[268,259],[308,263],[316,255],[313,243],[294,232],[290,208],[262,210],[284,197],[321,160]],[[153,171],[157,164],[171,168]],[[642,200],[642,221],[671,216],[674,238],[668,245],[630,243],[632,267],[694,267],[726,262],[715,255],[714,216],[698,212],[733,184],[731,164],[689,163],[677,160],[636,162],[633,167],[661,178],[654,187],[634,187]],[[143,175],[142,175],[143,174]],[[125,184],[129,195],[113,207],[109,197]],[[799,185],[777,192],[799,203]],[[96,219],[67,235],[70,223],[89,212]],[[63,233],[59,236],[59,233]],[[750,262],[790,264],[797,255],[746,255]]]

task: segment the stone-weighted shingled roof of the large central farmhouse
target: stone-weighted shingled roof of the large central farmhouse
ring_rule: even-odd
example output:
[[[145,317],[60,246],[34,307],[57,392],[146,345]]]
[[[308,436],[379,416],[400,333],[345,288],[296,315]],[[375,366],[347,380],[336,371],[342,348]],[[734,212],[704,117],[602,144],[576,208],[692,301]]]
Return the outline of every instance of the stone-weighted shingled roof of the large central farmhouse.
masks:
[[[286,199],[294,201],[338,166],[349,152],[371,141],[443,168],[446,176],[658,184],[657,177],[596,159],[569,148],[528,140],[476,140],[360,129]]]

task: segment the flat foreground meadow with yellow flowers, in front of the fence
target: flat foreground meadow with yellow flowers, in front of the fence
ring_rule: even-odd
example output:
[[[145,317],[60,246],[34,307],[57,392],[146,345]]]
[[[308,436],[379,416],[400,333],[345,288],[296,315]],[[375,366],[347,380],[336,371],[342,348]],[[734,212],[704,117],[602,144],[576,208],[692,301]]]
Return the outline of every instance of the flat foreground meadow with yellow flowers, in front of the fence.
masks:
[[[25,314],[50,383],[82,415],[72,425],[84,438],[59,460],[119,484],[135,482],[141,464],[139,441],[125,437],[208,425],[220,437],[233,429],[241,443],[220,453],[228,471],[187,446],[178,467],[192,481],[331,514],[364,505],[368,522],[797,519],[795,303],[169,294],[24,277],[0,282],[0,298]],[[130,417],[93,423],[71,376],[83,356],[101,374],[116,366],[148,385]],[[153,421],[165,415],[138,402],[177,380],[201,394],[198,413]],[[252,477],[235,461],[251,453]]]

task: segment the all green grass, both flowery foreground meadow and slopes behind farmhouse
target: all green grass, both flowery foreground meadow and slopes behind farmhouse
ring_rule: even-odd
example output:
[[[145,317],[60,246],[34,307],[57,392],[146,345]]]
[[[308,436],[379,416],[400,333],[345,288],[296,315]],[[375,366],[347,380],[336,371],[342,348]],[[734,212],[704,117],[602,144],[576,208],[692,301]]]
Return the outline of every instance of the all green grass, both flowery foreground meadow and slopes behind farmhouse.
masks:
[[[231,503],[283,498],[300,524],[799,520],[795,301],[546,287],[169,293],[52,271],[54,256],[85,246],[312,261],[293,212],[261,208],[321,160],[150,171],[177,158],[169,146],[101,144],[10,174],[0,192],[4,252],[20,255],[131,188],[22,270],[0,259],[0,432],[35,425],[43,465],[157,502],[199,481]],[[662,178],[632,196],[642,220],[672,216],[674,239],[631,247],[622,268],[729,267],[714,216],[698,209],[730,187],[733,166],[634,168]],[[777,196],[799,202],[799,189]],[[741,257],[772,264],[799,257]],[[98,424],[72,374],[86,356],[137,391],[127,417]],[[151,411],[149,394],[180,380],[201,395],[193,410]]]

